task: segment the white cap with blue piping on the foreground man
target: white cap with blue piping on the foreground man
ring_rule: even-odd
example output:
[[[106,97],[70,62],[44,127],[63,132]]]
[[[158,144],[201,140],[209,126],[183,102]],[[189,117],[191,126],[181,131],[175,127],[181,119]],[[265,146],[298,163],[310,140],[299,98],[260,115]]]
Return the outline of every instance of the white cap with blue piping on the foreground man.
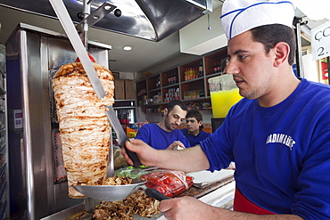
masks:
[[[294,5],[292,1],[226,0],[222,6],[222,27],[227,39],[268,24],[292,27]]]

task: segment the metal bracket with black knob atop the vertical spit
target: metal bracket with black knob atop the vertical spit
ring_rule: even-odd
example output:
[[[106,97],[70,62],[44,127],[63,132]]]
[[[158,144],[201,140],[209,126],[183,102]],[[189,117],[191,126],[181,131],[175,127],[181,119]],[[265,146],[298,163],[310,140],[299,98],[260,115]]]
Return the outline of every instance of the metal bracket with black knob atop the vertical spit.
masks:
[[[100,7],[98,7],[94,12],[89,14],[87,18],[84,20],[81,20],[80,23],[76,26],[76,29],[78,32],[83,31],[84,27],[84,22],[87,21],[88,26],[94,25],[97,21],[102,20],[105,15],[108,13],[112,12],[117,6],[109,3],[109,2],[104,2]]]

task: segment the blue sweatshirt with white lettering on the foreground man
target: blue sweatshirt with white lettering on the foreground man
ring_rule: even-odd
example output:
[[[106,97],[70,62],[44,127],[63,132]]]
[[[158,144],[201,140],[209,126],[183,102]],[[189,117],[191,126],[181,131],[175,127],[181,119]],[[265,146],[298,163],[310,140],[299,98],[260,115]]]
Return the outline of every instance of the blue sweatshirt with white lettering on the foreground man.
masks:
[[[202,142],[210,171],[235,161],[235,181],[261,208],[330,219],[330,86],[301,79],[285,101],[243,98]]]

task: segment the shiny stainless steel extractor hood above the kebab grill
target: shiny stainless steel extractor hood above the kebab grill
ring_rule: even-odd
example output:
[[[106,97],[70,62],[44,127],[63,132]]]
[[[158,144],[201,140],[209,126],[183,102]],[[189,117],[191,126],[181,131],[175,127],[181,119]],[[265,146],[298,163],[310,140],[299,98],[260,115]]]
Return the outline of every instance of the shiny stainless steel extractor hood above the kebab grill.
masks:
[[[93,0],[91,12],[105,1]],[[211,12],[210,0],[108,0],[107,2],[117,6],[121,16],[116,17],[113,12],[108,13],[93,27],[156,42],[197,20],[205,13]],[[78,12],[83,11],[83,0],[63,0],[63,3],[71,19],[80,22]],[[47,0],[0,0],[0,5],[57,19]]]

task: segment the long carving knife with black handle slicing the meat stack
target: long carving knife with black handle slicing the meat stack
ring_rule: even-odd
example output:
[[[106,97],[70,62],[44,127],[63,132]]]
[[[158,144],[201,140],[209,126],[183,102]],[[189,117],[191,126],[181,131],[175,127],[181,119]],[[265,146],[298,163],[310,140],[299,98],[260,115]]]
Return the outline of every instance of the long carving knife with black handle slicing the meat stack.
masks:
[[[103,85],[101,84],[99,77],[97,77],[92,62],[89,60],[86,47],[83,45],[80,37],[78,36],[78,32],[73,25],[73,21],[70,18],[69,12],[67,11],[62,0],[49,0],[49,2],[52,4],[54,12],[59,18],[66,35],[69,37],[73,49],[78,54],[78,57],[84,69],[87,72],[87,77],[89,78],[95,90],[95,93],[97,94],[97,97],[99,99],[102,99],[103,97],[106,96]],[[122,126],[120,125],[120,121],[116,117],[115,111],[113,110],[112,106],[106,106],[106,107],[109,110],[105,111],[105,114],[107,118],[110,120],[111,126],[114,128],[116,134],[118,135],[120,147],[125,148],[126,152],[128,153],[128,157],[132,159],[135,167],[140,166],[141,163],[140,160],[137,158],[136,153],[129,151],[125,146],[125,142],[128,141],[128,136],[125,134]]]

